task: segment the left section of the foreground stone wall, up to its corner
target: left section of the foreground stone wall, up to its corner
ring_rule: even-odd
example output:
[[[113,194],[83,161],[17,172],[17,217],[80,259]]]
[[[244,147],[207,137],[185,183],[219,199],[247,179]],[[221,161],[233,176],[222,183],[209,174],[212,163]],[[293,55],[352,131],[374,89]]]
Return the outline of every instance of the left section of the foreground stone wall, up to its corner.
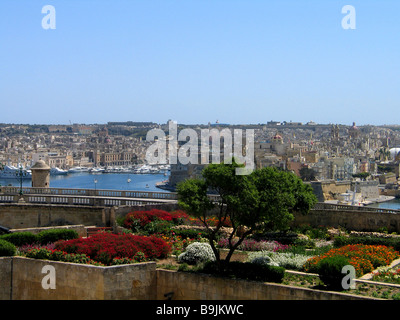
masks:
[[[55,289],[44,288],[54,267]],[[4,300],[148,300],[156,298],[155,262],[111,267],[0,258],[0,298]]]

